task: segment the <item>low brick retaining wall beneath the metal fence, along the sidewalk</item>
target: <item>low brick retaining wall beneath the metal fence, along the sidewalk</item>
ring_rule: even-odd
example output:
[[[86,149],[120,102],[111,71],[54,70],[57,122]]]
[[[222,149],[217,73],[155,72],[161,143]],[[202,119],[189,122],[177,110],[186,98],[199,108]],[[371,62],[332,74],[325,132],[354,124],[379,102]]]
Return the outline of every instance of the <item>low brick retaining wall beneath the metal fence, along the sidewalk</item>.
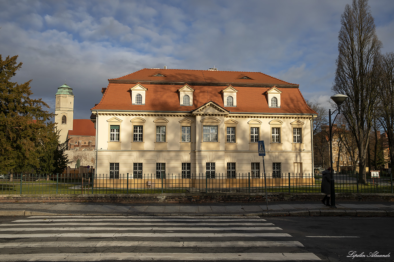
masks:
[[[319,193],[268,193],[268,201],[318,201]],[[393,201],[394,194],[336,193],[336,201]],[[213,194],[48,194],[0,195],[0,202],[100,202],[100,203],[223,203],[266,202],[265,193],[213,193]]]

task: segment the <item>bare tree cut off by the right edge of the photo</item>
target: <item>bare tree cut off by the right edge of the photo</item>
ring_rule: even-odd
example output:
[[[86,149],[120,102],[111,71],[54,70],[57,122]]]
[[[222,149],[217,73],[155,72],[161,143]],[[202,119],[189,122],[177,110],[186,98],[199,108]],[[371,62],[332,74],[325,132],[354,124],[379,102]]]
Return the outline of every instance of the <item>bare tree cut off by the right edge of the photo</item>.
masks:
[[[394,53],[386,53],[381,59],[382,82],[379,88],[381,95],[380,119],[387,134],[390,152],[391,174],[394,176]]]

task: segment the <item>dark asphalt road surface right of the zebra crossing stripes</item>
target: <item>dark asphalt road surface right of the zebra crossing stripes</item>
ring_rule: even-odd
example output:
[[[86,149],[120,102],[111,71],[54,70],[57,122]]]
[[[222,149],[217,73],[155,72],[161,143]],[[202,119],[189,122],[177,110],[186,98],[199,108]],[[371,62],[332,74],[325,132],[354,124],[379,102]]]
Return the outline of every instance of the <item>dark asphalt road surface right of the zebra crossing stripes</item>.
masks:
[[[323,261],[394,261],[392,217],[264,218],[292,235]],[[390,257],[377,257],[388,254]],[[360,256],[353,258],[352,255]]]

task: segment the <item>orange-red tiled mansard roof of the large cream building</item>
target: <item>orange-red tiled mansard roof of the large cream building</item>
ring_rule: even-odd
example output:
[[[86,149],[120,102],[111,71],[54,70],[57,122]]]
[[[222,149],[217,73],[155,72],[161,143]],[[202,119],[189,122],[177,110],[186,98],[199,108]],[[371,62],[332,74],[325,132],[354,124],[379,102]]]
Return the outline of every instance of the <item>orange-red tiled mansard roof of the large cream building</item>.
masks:
[[[161,73],[165,77],[152,77]],[[247,76],[251,79],[238,79]],[[110,111],[167,111],[190,112],[203,104],[213,101],[231,112],[260,114],[316,114],[307,104],[298,85],[253,72],[202,71],[202,70],[169,70],[143,69],[120,77],[108,79],[110,82],[106,92],[95,110]],[[140,83],[147,88],[145,104],[133,105],[130,88]],[[193,92],[193,105],[181,106],[180,89],[188,84]],[[232,85],[237,92],[236,107],[224,107],[223,89]],[[266,91],[276,86],[281,93],[281,107],[269,108]]]

